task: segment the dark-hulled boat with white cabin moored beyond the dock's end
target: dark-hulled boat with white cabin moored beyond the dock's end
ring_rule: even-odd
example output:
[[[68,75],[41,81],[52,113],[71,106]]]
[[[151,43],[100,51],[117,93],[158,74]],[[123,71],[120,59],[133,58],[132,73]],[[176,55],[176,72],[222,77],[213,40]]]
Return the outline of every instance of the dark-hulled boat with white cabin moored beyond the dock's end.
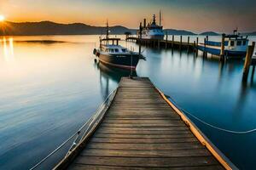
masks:
[[[109,29],[107,22],[106,38],[100,39],[100,48],[95,48],[93,54],[104,64],[136,70],[139,59],[145,59],[143,55],[120,46],[119,38],[109,38],[108,36]]]

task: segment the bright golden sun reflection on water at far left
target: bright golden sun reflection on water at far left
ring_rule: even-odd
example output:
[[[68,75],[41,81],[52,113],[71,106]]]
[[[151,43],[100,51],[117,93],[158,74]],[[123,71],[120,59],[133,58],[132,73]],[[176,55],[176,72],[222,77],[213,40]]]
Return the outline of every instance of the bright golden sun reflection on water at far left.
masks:
[[[10,37],[9,39],[6,39],[5,37],[3,37],[3,39],[1,39],[1,45],[3,45],[3,47],[1,47],[1,51],[3,51],[3,58],[5,61],[12,61],[15,59],[15,50],[14,50],[14,39],[12,37]]]

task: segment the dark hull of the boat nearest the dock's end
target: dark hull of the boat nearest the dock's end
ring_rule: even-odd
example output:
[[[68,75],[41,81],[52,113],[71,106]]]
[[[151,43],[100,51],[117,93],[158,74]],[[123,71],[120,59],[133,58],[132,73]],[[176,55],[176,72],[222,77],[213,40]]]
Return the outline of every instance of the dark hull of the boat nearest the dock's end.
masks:
[[[140,54],[99,54],[99,60],[114,67],[136,70]]]

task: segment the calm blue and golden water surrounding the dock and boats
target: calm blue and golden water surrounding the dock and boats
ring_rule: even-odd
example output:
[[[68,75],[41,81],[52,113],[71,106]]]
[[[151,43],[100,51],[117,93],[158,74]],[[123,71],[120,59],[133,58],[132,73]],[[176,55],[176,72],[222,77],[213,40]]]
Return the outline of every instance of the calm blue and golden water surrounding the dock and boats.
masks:
[[[0,40],[0,169],[27,169],[47,156],[128,75],[95,62],[98,36]],[[137,76],[150,77],[186,111],[230,130],[256,127],[256,77],[241,83],[241,61],[221,65],[201,53],[152,48],[143,48],[143,54],[147,61],[140,61]],[[223,133],[191,119],[237,167],[253,168],[256,133]]]

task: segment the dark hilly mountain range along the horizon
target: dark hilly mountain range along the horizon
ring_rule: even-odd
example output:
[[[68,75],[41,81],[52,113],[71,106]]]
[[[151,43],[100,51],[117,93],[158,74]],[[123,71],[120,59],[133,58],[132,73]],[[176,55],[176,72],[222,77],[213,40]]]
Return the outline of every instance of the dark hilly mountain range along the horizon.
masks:
[[[51,21],[41,22],[9,22],[0,23],[3,29],[0,29],[0,35],[5,36],[36,36],[36,35],[101,35],[105,34],[106,27],[89,26],[83,23],[59,24]],[[110,34],[121,35],[125,32],[136,34],[137,29],[129,29],[125,26],[110,26]],[[197,35],[192,31],[166,29],[169,35]],[[245,34],[245,33],[244,33]],[[246,33],[250,36],[255,36],[256,31]],[[218,36],[220,34],[213,31],[202,32],[199,35]]]

